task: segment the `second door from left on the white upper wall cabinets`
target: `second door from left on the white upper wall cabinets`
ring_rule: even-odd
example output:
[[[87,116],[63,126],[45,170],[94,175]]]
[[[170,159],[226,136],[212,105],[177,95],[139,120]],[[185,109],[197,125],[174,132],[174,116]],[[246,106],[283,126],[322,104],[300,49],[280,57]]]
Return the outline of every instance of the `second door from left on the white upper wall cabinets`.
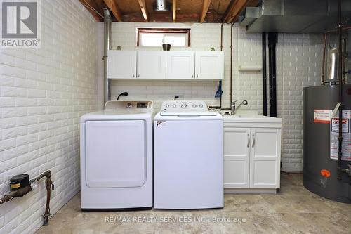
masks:
[[[140,79],[166,78],[166,51],[138,51]]]

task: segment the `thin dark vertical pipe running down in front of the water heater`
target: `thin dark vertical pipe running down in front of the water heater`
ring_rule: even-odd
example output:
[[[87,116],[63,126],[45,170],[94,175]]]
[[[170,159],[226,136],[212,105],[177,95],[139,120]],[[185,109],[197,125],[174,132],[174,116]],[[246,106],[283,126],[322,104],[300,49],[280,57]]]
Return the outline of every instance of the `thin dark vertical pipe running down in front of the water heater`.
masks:
[[[341,179],[343,169],[341,159],[343,157],[343,49],[342,49],[343,22],[341,18],[341,0],[338,0],[338,56],[339,56],[339,135],[338,135],[338,179]]]

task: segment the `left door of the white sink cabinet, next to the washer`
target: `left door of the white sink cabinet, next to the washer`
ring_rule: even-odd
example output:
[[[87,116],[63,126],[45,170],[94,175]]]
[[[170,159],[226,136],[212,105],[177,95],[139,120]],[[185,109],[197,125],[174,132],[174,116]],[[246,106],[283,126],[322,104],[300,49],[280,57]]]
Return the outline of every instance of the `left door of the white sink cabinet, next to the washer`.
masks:
[[[224,188],[249,188],[250,129],[224,128]]]

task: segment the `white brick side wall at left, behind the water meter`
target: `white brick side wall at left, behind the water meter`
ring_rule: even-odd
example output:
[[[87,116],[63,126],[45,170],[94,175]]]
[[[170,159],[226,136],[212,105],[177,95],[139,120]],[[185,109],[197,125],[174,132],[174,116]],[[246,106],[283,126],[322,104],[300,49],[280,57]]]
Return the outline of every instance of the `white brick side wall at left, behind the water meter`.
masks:
[[[50,169],[53,215],[79,191],[79,117],[98,106],[98,25],[78,0],[41,5],[41,48],[0,52],[0,196],[11,176]],[[0,233],[42,225],[44,181],[0,205]]]

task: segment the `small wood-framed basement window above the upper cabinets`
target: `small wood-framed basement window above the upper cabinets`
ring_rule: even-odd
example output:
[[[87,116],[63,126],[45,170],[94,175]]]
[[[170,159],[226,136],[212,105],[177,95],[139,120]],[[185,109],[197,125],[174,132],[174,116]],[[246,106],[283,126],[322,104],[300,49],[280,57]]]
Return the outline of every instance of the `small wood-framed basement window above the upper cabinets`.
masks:
[[[162,47],[162,44],[190,46],[190,28],[138,28],[137,46]]]

